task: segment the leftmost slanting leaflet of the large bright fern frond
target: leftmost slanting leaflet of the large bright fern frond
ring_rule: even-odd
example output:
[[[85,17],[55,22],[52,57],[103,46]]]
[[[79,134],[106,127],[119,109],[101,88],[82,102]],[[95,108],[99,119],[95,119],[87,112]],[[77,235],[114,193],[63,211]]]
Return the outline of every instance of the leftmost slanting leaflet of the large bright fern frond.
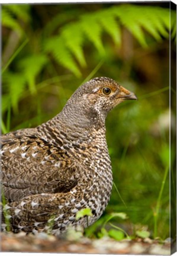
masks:
[[[72,55],[70,55],[70,52],[66,47],[65,41],[62,40],[62,37],[56,36],[52,39],[46,40],[44,43],[44,50],[48,53],[52,53],[54,59],[56,59],[60,65],[72,71],[76,76],[81,76],[81,72],[73,60]]]

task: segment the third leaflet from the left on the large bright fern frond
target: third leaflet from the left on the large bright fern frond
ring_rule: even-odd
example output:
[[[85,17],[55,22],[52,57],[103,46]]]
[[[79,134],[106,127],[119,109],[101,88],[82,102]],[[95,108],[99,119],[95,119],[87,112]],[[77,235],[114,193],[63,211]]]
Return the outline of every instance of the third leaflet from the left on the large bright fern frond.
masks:
[[[80,25],[85,36],[92,41],[98,52],[103,55],[105,50],[101,40],[101,25],[91,15],[83,15]]]

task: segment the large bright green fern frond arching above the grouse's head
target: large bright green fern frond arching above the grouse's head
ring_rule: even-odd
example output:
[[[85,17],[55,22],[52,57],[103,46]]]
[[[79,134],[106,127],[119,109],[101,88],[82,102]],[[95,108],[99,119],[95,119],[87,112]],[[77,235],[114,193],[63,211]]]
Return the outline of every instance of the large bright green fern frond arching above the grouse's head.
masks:
[[[63,25],[59,35],[47,39],[44,47],[60,65],[79,76],[81,72],[73,56],[81,66],[86,66],[83,45],[88,40],[94,44],[100,55],[104,55],[101,37],[104,31],[110,34],[119,47],[121,26],[126,27],[142,47],[147,47],[144,31],[157,41],[162,40],[162,36],[168,38],[169,10],[159,7],[114,5],[108,9],[89,12],[81,15],[78,20]]]

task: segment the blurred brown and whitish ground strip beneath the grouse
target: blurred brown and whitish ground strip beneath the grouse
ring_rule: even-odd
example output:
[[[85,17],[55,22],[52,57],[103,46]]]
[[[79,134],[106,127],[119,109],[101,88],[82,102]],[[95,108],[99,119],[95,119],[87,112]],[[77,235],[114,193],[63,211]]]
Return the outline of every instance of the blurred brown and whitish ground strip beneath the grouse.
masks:
[[[170,242],[159,242],[150,238],[123,239],[115,241],[112,238],[89,239],[57,238],[46,233],[36,235],[20,232],[1,233],[1,252],[59,252],[76,254],[149,254],[170,255]]]

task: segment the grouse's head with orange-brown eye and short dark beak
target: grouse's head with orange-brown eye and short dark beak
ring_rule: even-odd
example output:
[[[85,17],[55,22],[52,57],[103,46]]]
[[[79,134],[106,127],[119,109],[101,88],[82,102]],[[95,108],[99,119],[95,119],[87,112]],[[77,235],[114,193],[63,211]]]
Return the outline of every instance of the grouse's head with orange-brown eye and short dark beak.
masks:
[[[98,77],[81,85],[67,101],[66,108],[74,109],[80,117],[85,115],[89,120],[104,122],[110,110],[125,100],[137,97],[113,79]]]

